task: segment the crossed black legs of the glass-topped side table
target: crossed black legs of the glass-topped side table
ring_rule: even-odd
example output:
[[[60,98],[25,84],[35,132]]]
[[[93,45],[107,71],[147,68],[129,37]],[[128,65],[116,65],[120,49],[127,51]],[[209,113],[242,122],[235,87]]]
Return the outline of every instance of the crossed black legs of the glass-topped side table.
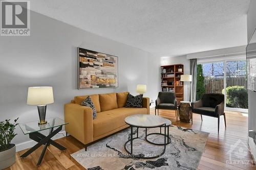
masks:
[[[46,153],[46,149],[47,147],[52,144],[54,145],[54,147],[58,148],[61,151],[65,151],[67,150],[65,147],[63,147],[62,145],[58,144],[57,142],[53,141],[51,138],[53,136],[55,136],[58,132],[60,132],[62,129],[62,126],[58,127],[55,131],[53,131],[53,128],[51,129],[50,133],[48,136],[45,136],[39,132],[33,132],[29,134],[29,138],[38,142],[36,145],[34,145],[34,147],[32,147],[30,150],[28,150],[26,153],[24,153],[22,156],[20,156],[21,158],[25,158],[27,157],[29,154],[31,154],[32,152],[34,152],[37,148],[39,148],[41,145],[45,145],[44,149],[42,150],[42,153],[39,157],[39,160],[37,162],[37,166],[39,166],[41,164],[42,158],[44,158],[44,155]]]

